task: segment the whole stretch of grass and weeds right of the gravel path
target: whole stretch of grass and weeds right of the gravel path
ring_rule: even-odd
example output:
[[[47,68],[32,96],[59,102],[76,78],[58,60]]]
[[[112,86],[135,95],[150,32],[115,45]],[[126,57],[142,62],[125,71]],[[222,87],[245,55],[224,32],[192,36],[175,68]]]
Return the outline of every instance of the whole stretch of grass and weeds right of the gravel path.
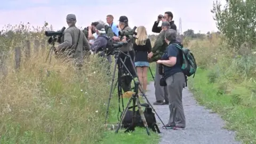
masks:
[[[221,37],[192,40],[185,46],[199,66],[188,81],[197,101],[220,114],[227,122],[225,128],[237,132],[236,139],[256,143],[256,55],[252,47],[241,47],[241,53],[236,53]]]

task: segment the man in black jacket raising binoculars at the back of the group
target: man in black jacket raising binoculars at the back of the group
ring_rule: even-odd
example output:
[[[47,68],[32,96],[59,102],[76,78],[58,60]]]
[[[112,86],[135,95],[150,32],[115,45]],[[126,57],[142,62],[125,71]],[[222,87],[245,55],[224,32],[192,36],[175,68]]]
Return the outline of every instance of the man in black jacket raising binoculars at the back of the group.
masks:
[[[157,21],[155,21],[153,27],[152,27],[152,32],[153,33],[160,33],[162,28],[158,27],[158,24],[160,21],[164,22],[164,21],[168,21],[170,23],[170,29],[174,29],[177,30],[176,25],[174,24],[173,19],[173,14],[172,12],[165,12],[164,15],[160,14],[157,17]]]

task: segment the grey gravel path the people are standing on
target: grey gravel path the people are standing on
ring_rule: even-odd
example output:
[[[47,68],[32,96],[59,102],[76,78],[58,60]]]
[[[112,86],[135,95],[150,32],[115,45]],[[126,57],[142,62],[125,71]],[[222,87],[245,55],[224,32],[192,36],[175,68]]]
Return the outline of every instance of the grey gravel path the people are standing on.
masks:
[[[154,82],[148,85],[147,98],[151,105],[155,101]],[[164,124],[169,120],[169,106],[155,106],[156,113],[162,119]],[[231,132],[222,127],[225,122],[217,115],[211,113],[211,110],[199,106],[186,87],[183,90],[183,107],[186,116],[185,130],[165,130],[162,129],[163,124],[156,116],[158,126],[161,127],[161,144],[231,144],[241,143],[234,140],[235,132]]]

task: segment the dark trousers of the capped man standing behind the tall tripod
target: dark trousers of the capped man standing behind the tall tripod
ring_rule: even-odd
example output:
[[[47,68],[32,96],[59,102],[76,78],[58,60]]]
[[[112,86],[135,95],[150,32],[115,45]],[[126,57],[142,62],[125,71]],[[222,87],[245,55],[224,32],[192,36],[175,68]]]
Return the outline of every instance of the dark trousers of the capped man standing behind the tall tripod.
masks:
[[[124,65],[127,67],[127,69],[130,71],[130,73],[132,74],[132,77],[136,76],[135,70],[134,70],[134,51],[129,51],[129,52],[124,52],[125,54],[129,53],[130,57],[126,57],[125,59],[125,54],[121,53],[119,55],[119,57],[123,60]],[[125,60],[125,61],[124,61]],[[132,61],[131,61],[132,60]],[[131,63],[133,62],[133,63]],[[118,64],[120,67],[122,67],[122,62],[118,61]],[[127,69],[123,66],[122,67],[122,76],[121,76],[121,85],[122,85],[122,89],[124,92],[127,91],[131,91],[131,82],[132,82],[132,77],[129,76],[129,72],[127,71]]]

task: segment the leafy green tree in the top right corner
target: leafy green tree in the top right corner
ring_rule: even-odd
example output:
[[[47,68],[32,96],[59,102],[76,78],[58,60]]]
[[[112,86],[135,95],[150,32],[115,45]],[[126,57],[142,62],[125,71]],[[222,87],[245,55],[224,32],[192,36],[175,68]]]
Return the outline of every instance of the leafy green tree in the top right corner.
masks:
[[[226,0],[222,8],[219,0],[213,3],[212,13],[218,29],[231,46],[239,49],[242,44],[256,44],[255,0]]]

